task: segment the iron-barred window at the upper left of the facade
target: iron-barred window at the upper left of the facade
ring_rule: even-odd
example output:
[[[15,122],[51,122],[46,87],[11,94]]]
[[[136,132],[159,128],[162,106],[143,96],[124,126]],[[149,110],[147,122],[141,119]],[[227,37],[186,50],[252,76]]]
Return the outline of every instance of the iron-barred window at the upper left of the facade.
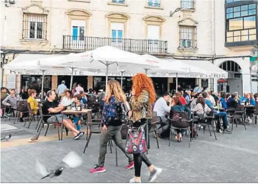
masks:
[[[22,38],[46,39],[47,15],[23,14]]]

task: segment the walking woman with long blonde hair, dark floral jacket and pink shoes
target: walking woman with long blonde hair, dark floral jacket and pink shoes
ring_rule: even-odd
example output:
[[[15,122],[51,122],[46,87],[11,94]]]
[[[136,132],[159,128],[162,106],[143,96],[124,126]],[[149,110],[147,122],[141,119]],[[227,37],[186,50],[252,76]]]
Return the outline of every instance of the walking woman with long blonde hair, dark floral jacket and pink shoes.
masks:
[[[109,140],[113,140],[117,147],[119,147],[128,158],[127,169],[134,167],[134,161],[130,154],[125,152],[121,138],[121,103],[126,102],[125,94],[116,80],[109,80],[107,89],[107,98],[104,105],[102,122],[104,123],[103,129],[100,135],[100,152],[99,161],[95,168],[91,169],[91,173],[103,173],[106,172],[104,166],[105,156],[107,153],[107,144]]]

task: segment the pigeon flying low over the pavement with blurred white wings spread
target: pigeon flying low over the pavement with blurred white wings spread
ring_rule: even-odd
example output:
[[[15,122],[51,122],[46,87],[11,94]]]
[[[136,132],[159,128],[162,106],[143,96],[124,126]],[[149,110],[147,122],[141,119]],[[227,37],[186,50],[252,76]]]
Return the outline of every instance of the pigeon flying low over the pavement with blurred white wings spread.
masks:
[[[54,170],[48,170],[44,165],[42,165],[37,160],[36,172],[42,176],[41,179],[44,179],[46,177],[53,178],[53,177],[60,176],[65,168],[76,168],[76,167],[79,167],[81,164],[82,164],[81,157],[74,151],[71,151],[62,159],[60,166],[58,166]]]

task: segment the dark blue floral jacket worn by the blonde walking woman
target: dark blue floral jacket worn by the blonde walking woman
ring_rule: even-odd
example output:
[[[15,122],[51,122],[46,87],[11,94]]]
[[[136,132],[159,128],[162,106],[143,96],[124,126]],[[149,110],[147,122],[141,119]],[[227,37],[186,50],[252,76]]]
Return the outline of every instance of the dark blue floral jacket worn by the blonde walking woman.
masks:
[[[104,105],[102,122],[105,125],[108,125],[108,124],[115,125],[116,123],[114,122],[120,121],[120,119],[121,119],[121,103],[117,101],[114,96],[112,96],[110,99],[110,102]],[[118,124],[115,126],[118,126]]]

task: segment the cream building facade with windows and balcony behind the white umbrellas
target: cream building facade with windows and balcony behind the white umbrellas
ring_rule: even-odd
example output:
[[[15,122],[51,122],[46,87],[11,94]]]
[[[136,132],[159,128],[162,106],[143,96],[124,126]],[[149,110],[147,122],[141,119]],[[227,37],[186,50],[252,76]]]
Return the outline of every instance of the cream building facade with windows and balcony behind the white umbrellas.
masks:
[[[229,70],[228,79],[179,78],[184,88],[198,83],[215,91],[256,92],[250,56],[258,50],[257,4],[257,0],[1,0],[1,61],[111,45],[167,60],[206,60]],[[3,86],[8,86],[8,74],[5,70]],[[74,81],[88,88],[105,81],[80,71],[76,75]],[[69,83],[69,76],[46,77],[46,90],[63,79]],[[153,80],[159,91],[175,88],[175,78]],[[16,88],[40,86],[40,81],[40,75],[17,74]],[[125,90],[130,77],[127,82]]]

